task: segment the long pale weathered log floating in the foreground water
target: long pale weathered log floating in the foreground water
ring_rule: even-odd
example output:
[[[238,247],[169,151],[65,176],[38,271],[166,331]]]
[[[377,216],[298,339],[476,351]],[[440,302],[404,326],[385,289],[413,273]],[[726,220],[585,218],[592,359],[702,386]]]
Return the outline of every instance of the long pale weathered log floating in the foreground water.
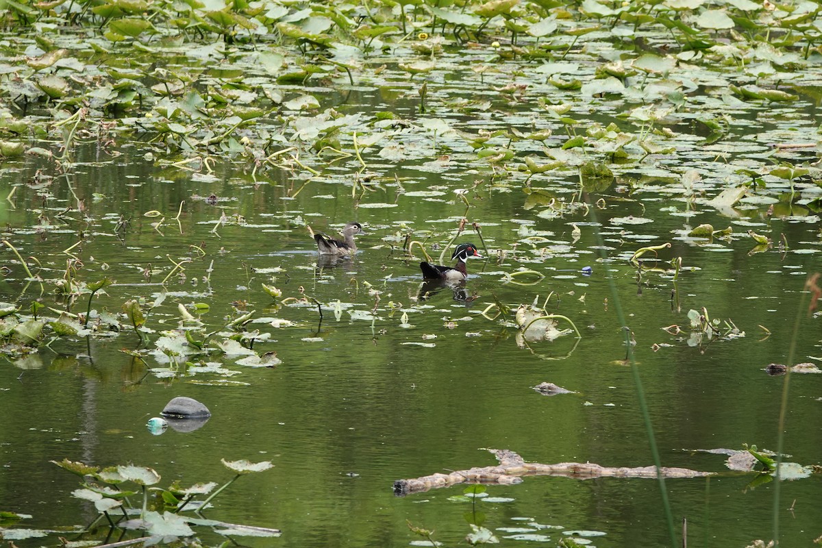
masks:
[[[589,480],[594,477],[657,477],[657,467],[644,466],[636,468],[603,467],[593,463],[526,463],[519,454],[509,449],[487,449],[499,461],[497,466],[473,467],[450,474],[432,474],[413,480],[394,482],[394,494],[398,496],[424,493],[429,489],[449,487],[458,483],[495,483],[512,485],[520,483],[523,476],[561,476]],[[659,473],[663,477],[705,477],[713,472],[698,472],[689,468],[662,467]]]

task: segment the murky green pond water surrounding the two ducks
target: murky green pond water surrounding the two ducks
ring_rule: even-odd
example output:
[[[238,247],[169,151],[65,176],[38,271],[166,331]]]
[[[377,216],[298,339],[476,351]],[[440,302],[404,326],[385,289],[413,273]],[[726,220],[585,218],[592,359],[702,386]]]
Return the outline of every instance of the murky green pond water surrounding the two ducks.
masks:
[[[601,34],[587,47],[602,51],[611,44]],[[813,100],[746,108],[729,103],[739,109],[730,136],[711,145],[702,142],[693,118],[700,104],[716,100],[710,90],[719,84],[702,82],[689,99],[691,113],[669,121],[675,150],[639,161],[635,147],[630,163],[610,164],[615,182],[580,192],[575,166],[585,157],[580,149],[560,150],[565,130],[546,117],[538,98],[563,100],[567,93],[545,82],[552,71],[592,76],[593,67],[539,72],[534,63],[509,59],[498,60],[500,72],[470,70],[488,54],[487,46],[443,54],[449,70],[428,75],[425,115],[418,114],[417,82],[409,83],[395,66],[409,52],[388,58],[380,81],[349,85],[339,76],[333,86],[281,86],[289,98],[316,95],[323,109],[353,117],[352,127],[373,122],[382,111],[416,127],[363,151],[372,178],[354,191],[363,165],[353,155],[327,165],[309,156],[321,171],[312,179],[298,163],[256,169],[251,161],[219,154],[214,173],[196,170],[196,162],[191,170],[169,166],[160,161],[162,150],[144,140],[118,143],[117,155],[94,143],[80,145],[67,173],[37,156],[4,163],[0,196],[15,191],[0,201],[2,237],[44,279],[44,292],[39,282],[25,280],[5,247],[2,301],[21,306],[22,317],[35,299],[53,309],[40,311],[52,320],[69,308],[84,314],[87,294],[71,305],[54,294],[74,258],[81,261],[72,263],[76,280],[115,281],[92,302],[95,334],[60,336],[26,355],[9,349],[0,367],[6,417],[0,510],[32,516],[14,527],[53,531],[95,519],[92,504],[72,497],[78,478],[52,460],[134,463],[154,468],[159,486],[191,486],[228,481],[233,474],[220,460],[244,458],[274,467],[240,477],[205,515],[282,530],[275,540],[242,537],[248,546],[423,541],[408,523],[434,530],[433,539],[450,546],[464,543],[471,523],[487,527],[504,546],[556,546],[564,536],[587,546],[670,546],[654,479],[526,477],[519,485],[487,486],[487,496],[473,504],[454,498],[465,485],[405,497],[392,491],[395,480],[490,466],[495,460],[488,448],[538,463],[652,465],[635,371],[663,466],[717,472],[665,481],[677,536],[683,518],[690,546],[746,546],[767,541],[777,529],[783,546],[810,546],[822,535],[818,476],[781,481],[777,498],[775,481],[729,472],[723,454],[702,451],[745,444],[777,450],[790,380],[785,460],[812,465],[822,457],[822,375],[764,371],[772,362],[822,356],[819,319],[809,315],[805,292],[822,247],[820,219],[808,209],[820,188],[798,181],[797,203],[789,206],[788,182],[766,177],[766,188],[740,202],[708,203],[729,184],[744,182],[747,176],[733,178],[734,169],[774,154],[769,143],[813,131]],[[571,55],[567,62],[584,60]],[[229,74],[236,68],[226,65],[221,70]],[[704,81],[705,74],[720,79],[710,68],[694,71]],[[818,75],[804,77],[813,82]],[[528,92],[512,99],[516,91],[501,90],[512,81],[529,85]],[[619,114],[628,109],[623,100],[603,99],[575,103],[571,115],[585,126],[604,127],[625,122]],[[286,113],[288,123],[306,127],[323,121],[321,111],[284,108],[262,125],[278,127]],[[473,135],[551,127],[559,136],[545,145],[574,168],[534,175],[525,185],[527,171],[503,166],[543,154],[542,143],[492,137],[496,147],[510,146],[515,154],[492,164],[477,159],[471,138],[450,133],[438,120]],[[641,120],[625,123],[638,133],[643,127]],[[349,150],[352,142],[346,133]],[[58,150],[53,142],[37,144]],[[794,163],[815,159],[807,150],[775,154]],[[38,170],[53,179],[38,182]],[[210,195],[216,203],[205,200]],[[461,292],[442,288],[420,298],[419,248],[409,257],[404,242],[423,241],[436,260],[432,244],[445,246],[463,218],[468,224],[455,242],[473,242],[486,258],[469,260]],[[307,225],[335,233],[351,220],[367,231],[358,237],[358,255],[318,265]],[[478,223],[482,239],[471,223]],[[702,223],[731,227],[732,236],[689,237]],[[749,230],[773,245],[755,247]],[[659,250],[658,262],[646,261],[642,269],[631,264],[641,247],[666,242],[672,246]],[[677,257],[682,269],[675,275],[671,260]],[[173,270],[181,260],[187,261],[182,275]],[[510,277],[520,269],[538,274]],[[282,296],[270,297],[263,283]],[[129,299],[140,301],[145,313],[143,341],[122,315]],[[518,343],[513,312],[535,300],[572,320],[581,338],[566,333],[552,342]],[[321,320],[314,302],[322,304]],[[509,313],[497,315],[495,303],[510,306]],[[202,326],[182,321],[180,305]],[[710,338],[700,337],[688,317],[703,309],[723,322]],[[103,312],[120,315],[122,330],[105,328]],[[223,342],[233,332],[229,320],[247,312],[253,315],[245,329],[260,331],[253,350],[276,352],[279,365],[239,365],[241,357],[215,347],[208,355],[178,357],[174,366],[156,351],[162,332],[181,326],[197,328],[192,333],[200,340],[216,332],[212,342]],[[634,366],[626,362],[621,314],[635,343]],[[289,323],[275,327],[276,320]],[[672,325],[681,332],[663,329]],[[568,325],[561,320],[557,327]],[[45,337],[48,342],[52,332]],[[184,366],[186,360],[192,364]],[[574,393],[547,397],[532,389],[545,381]],[[145,423],[179,395],[205,403],[213,417],[196,431],[152,435]],[[103,528],[86,536],[54,532],[16,544],[105,534]],[[209,532],[201,537],[222,539]]]

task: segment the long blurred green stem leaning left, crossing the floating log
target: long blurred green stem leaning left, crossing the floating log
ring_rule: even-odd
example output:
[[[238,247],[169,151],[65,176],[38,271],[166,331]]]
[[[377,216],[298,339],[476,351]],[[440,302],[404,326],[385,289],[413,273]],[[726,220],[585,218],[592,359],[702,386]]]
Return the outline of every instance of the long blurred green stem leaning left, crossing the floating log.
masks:
[[[589,208],[589,217],[594,223],[598,223],[597,213],[595,208]],[[598,225],[594,225],[598,226]],[[599,255],[603,261],[607,263],[607,253],[605,252],[605,241],[603,235],[597,231],[597,243],[599,246]],[[668,244],[670,245],[670,244]],[[664,245],[663,245],[664,246]],[[652,246],[653,247],[653,246]],[[643,248],[646,249],[646,248]],[[640,250],[642,251],[642,250]],[[639,252],[639,251],[637,251]],[[634,254],[636,256],[636,253]],[[633,257],[632,257],[633,259]],[[671,548],[677,548],[677,533],[674,530],[673,514],[671,512],[671,503],[668,500],[667,489],[665,487],[665,477],[662,474],[662,460],[659,458],[659,449],[657,447],[657,440],[653,435],[653,425],[651,424],[651,416],[648,410],[648,402],[645,401],[645,393],[642,388],[642,379],[640,378],[640,370],[636,366],[634,358],[633,347],[630,343],[630,329],[626,323],[625,312],[622,311],[619,294],[617,293],[617,283],[614,280],[611,269],[605,269],[605,277],[608,282],[608,288],[612,296],[613,311],[617,315],[617,321],[621,325],[623,342],[626,345],[626,360],[630,363],[630,373],[634,378],[634,385],[636,387],[636,398],[640,404],[640,416],[645,425],[645,432],[648,435],[649,449],[651,450],[651,457],[653,458],[653,465],[657,468],[657,481],[659,482],[659,495],[662,497],[663,510],[665,512],[665,520],[667,522],[668,536],[670,536]]]

